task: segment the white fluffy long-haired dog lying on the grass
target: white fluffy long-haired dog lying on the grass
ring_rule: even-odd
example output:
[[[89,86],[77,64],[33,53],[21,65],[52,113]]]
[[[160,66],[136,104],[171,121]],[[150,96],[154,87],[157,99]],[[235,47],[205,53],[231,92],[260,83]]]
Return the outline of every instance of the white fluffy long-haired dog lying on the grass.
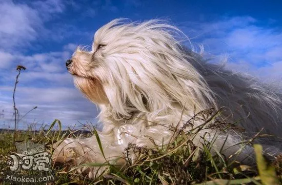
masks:
[[[262,128],[264,133],[281,135],[279,92],[254,78],[207,63],[185,49],[177,33],[181,33],[177,28],[157,20],[125,23],[115,19],[95,33],[91,51],[75,51],[66,65],[75,86],[100,108],[98,117],[104,127],[98,135],[106,159],[93,136],[64,140],[54,152],[55,161],[80,165],[115,159],[122,165],[128,143],[148,148],[166,145],[174,136],[169,128],[181,129],[195,113],[212,107],[224,106],[223,119],[239,120],[245,136]],[[201,124],[203,121],[195,120],[186,130]],[[213,147],[223,147],[225,155],[239,149],[232,146],[241,140],[241,134],[232,129],[228,134],[216,128],[200,131],[195,145],[202,142],[200,136],[205,132],[210,138],[217,135]],[[265,149],[277,153],[278,142],[268,139],[261,141]],[[239,158],[251,153],[252,148],[246,147]],[[102,173],[95,167],[78,171],[90,178]]]

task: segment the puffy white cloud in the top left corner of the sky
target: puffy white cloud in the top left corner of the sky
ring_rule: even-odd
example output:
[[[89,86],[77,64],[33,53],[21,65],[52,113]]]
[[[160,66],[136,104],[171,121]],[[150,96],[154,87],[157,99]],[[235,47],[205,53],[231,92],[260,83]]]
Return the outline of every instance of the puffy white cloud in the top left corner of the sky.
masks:
[[[0,1],[0,49],[27,48],[30,42],[48,32],[44,23],[63,12],[64,7],[59,0],[37,1],[31,5]]]

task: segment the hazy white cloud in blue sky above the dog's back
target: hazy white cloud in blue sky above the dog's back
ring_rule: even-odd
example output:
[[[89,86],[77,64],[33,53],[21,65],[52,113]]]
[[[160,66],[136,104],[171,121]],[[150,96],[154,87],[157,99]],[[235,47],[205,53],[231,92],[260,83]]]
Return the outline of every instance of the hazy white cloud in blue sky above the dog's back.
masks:
[[[207,56],[219,60],[222,54],[227,55],[227,67],[277,79],[282,76],[282,33],[273,26],[259,25],[258,20],[243,16],[208,23],[187,22],[182,28],[194,44],[203,43]]]

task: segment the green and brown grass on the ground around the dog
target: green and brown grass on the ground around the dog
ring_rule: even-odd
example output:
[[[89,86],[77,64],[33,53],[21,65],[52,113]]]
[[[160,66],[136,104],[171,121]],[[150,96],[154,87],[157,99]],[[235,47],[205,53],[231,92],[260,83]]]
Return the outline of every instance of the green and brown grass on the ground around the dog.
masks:
[[[199,130],[207,127],[219,129],[219,127],[227,126],[227,124],[215,121],[217,122],[216,125],[207,126],[208,121],[217,118],[217,114],[210,112],[202,112],[194,118],[203,118],[205,124],[189,132],[186,132],[185,129],[175,129],[176,138],[169,145],[162,147],[147,149],[133,144],[129,145],[125,149],[125,154],[130,151],[135,152],[139,156],[137,161],[132,163],[127,160],[128,163],[122,170],[105,163],[103,165],[109,166],[109,170],[97,179],[88,179],[82,174],[70,172],[70,166],[67,165],[53,165],[52,168],[55,170],[57,178],[52,184],[281,184],[282,156],[278,156],[274,162],[269,163],[262,155],[261,146],[256,145],[257,167],[248,167],[238,162],[227,163],[226,158],[228,156],[223,156],[220,152],[215,152],[215,154],[210,152],[212,149],[211,143],[205,142],[199,148],[192,142]],[[188,121],[188,124],[191,123]],[[51,129],[55,127],[57,127],[56,131],[52,131]],[[96,136],[100,150],[103,150],[95,129],[90,128],[90,130],[92,132],[86,134],[85,137]],[[9,154],[15,152],[13,134],[12,131],[0,133],[1,172],[9,170],[6,161]],[[58,120],[55,120],[47,131],[16,132],[16,141],[30,140],[35,143],[45,143],[48,150],[52,149],[54,142],[67,137],[77,137],[77,134],[71,130],[61,131],[61,122]],[[94,163],[87,165],[95,168],[101,166],[101,164]],[[3,173],[0,176],[1,179],[4,178]],[[4,184],[3,181],[0,182]]]

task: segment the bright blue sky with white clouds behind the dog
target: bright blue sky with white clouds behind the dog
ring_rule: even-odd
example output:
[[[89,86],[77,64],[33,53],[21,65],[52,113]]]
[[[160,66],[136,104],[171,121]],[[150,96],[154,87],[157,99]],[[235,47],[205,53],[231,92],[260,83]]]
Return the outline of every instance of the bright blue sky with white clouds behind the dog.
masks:
[[[230,2],[230,3],[228,3]],[[231,3],[232,2],[232,3]],[[270,3],[271,2],[271,3]],[[18,128],[60,119],[64,128],[95,124],[97,108],[75,89],[65,68],[77,45],[91,45],[110,20],[169,20],[212,61],[263,81],[282,79],[282,2],[273,1],[75,1],[0,0],[0,128],[12,128],[16,66]],[[79,124],[78,124],[79,125]]]

